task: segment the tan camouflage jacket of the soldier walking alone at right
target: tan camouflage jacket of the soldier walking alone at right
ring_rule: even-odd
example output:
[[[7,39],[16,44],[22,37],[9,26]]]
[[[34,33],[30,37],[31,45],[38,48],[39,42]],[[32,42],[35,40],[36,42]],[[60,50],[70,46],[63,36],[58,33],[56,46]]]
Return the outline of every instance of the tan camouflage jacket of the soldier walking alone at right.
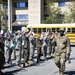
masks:
[[[61,54],[61,53],[66,53],[68,51],[68,53],[71,52],[71,47],[70,47],[70,40],[68,39],[67,36],[57,36],[56,38],[54,38],[52,40],[52,43],[56,43],[56,53]]]

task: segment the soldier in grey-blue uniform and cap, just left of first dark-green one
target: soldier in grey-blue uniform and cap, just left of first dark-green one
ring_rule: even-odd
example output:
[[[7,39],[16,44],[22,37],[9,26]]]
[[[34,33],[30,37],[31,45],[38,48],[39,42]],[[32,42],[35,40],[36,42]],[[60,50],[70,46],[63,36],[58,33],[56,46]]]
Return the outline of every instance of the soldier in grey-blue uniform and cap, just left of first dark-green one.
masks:
[[[16,47],[15,47],[15,52],[16,52],[16,67],[20,67],[20,62],[21,62],[21,53],[22,53],[22,34],[21,31],[17,31],[17,36],[15,38],[16,40]]]

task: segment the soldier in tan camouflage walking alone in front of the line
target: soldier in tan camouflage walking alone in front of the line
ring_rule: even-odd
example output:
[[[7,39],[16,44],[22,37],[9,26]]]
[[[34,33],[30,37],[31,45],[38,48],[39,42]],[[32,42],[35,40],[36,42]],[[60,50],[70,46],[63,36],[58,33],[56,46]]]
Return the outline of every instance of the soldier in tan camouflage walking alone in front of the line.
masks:
[[[60,75],[63,75],[65,71],[66,54],[70,56],[71,52],[70,40],[64,35],[64,31],[64,28],[60,28],[59,36],[52,40],[52,43],[56,42],[54,61],[59,68]]]

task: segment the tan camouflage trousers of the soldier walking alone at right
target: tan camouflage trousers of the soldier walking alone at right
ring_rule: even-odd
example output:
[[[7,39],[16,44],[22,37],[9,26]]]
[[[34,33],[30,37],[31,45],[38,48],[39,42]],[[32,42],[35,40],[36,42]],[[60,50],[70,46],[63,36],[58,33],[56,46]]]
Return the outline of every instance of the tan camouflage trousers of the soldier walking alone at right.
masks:
[[[55,53],[55,64],[56,66],[63,72],[65,71],[65,62],[66,62],[66,53],[62,53],[60,55],[57,55]]]

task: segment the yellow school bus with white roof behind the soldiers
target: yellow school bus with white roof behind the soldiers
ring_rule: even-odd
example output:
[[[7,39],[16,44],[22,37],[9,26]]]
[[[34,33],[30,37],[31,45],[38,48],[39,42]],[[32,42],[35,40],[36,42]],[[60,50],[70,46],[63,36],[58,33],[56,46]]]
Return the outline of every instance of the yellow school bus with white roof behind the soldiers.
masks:
[[[34,24],[27,25],[27,28],[31,28],[34,31],[34,36],[42,32],[58,32],[60,28],[65,28],[66,36],[70,39],[71,43],[75,43],[75,24]]]

